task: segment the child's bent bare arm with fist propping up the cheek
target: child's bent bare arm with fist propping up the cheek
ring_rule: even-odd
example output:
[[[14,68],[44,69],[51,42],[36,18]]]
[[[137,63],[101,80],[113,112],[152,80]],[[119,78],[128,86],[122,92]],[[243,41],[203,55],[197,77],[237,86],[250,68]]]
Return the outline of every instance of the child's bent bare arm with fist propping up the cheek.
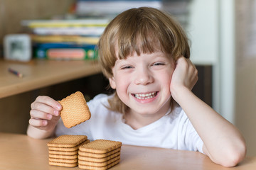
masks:
[[[216,164],[235,166],[245,157],[245,140],[233,124],[191,92],[197,79],[195,73],[190,60],[178,59],[171,79],[171,95],[203,140],[203,152]]]

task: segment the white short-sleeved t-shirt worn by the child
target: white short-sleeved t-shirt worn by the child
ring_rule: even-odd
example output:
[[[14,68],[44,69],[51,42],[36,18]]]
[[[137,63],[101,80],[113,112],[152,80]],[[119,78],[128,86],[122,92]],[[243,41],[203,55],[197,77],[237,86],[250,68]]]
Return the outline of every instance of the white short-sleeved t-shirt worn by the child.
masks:
[[[116,140],[124,145],[163,147],[203,153],[203,141],[181,107],[174,108],[174,111],[154,123],[134,130],[124,123],[122,113],[110,111],[105,107],[109,106],[107,99],[110,97],[112,96],[100,94],[87,102],[92,115],[90,120],[80,125],[68,129],[60,119],[56,127],[56,135],[87,135],[89,140]]]

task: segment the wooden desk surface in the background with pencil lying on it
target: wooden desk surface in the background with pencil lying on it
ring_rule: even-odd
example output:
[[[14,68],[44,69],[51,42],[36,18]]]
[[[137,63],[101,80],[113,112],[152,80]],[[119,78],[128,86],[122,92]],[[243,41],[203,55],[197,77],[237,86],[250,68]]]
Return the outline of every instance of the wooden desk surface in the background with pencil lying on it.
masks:
[[[21,72],[23,78],[11,74],[9,68]],[[0,60],[0,98],[97,73],[100,73],[99,64],[88,60],[32,60],[28,63]]]

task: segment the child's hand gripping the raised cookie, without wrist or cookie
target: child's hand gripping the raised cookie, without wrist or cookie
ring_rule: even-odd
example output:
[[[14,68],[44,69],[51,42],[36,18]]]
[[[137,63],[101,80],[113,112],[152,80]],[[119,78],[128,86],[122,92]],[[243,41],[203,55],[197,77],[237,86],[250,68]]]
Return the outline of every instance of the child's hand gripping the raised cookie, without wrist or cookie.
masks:
[[[58,101],[48,96],[38,96],[31,103],[31,119],[29,124],[35,128],[52,131],[60,119],[62,106]]]

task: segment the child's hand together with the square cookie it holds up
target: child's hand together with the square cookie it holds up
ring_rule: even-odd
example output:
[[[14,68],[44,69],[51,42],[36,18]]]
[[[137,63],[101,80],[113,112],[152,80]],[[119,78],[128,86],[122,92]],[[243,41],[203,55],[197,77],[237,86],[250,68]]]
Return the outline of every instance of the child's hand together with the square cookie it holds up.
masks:
[[[90,110],[80,91],[71,94],[61,101],[48,96],[38,96],[31,104],[31,119],[27,130],[28,136],[43,139],[54,135],[55,126],[60,117],[66,128],[90,119]]]

